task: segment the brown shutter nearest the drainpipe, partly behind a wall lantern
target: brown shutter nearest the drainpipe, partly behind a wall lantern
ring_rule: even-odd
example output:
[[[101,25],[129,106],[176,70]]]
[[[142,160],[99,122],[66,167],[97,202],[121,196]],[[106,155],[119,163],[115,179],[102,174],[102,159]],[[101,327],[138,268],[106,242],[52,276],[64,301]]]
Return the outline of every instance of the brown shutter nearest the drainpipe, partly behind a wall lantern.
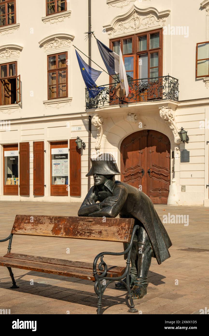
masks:
[[[70,139],[70,196],[81,196],[81,151]]]

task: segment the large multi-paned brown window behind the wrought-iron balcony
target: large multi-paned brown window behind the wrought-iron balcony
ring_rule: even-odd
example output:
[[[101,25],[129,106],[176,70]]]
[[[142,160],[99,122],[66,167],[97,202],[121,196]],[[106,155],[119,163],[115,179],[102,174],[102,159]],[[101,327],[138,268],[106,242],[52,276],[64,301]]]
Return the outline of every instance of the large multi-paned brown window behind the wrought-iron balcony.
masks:
[[[162,29],[110,40],[110,49],[123,54],[128,82],[162,76]],[[114,75],[113,77],[119,77]]]

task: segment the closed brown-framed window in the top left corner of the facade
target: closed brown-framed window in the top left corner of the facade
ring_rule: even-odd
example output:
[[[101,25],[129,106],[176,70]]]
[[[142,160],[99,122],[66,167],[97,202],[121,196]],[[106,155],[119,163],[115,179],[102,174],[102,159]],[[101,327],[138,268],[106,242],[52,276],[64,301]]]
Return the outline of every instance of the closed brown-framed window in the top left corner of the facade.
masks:
[[[0,27],[16,23],[16,0],[0,0]]]

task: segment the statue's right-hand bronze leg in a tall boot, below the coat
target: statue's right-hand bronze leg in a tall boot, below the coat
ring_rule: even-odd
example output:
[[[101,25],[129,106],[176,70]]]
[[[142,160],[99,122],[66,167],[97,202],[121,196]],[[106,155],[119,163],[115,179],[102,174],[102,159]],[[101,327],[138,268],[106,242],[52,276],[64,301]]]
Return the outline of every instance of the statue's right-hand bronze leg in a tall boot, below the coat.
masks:
[[[146,233],[146,230],[141,226],[139,229],[138,243],[138,275],[132,288],[133,299],[141,299],[147,294],[147,275],[151,265],[153,255],[152,245]]]

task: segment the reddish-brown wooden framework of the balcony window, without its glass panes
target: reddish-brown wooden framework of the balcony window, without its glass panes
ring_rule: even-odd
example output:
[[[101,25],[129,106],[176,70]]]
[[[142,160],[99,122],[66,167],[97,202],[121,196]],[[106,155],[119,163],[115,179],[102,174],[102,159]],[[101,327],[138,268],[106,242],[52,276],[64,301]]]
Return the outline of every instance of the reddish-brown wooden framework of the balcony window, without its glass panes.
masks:
[[[150,35],[151,34],[155,34],[155,33],[159,33],[159,47],[158,48],[153,48],[150,49],[149,45],[150,45]],[[147,36],[147,49],[143,50],[143,51],[138,51],[138,38],[140,36]],[[148,53],[148,78],[150,78],[150,54],[154,53],[154,52],[158,52],[158,77],[163,76],[163,29],[159,28],[159,29],[154,29],[154,30],[150,30],[147,32],[142,32],[142,33],[138,33],[138,34],[133,34],[133,35],[128,35],[128,36],[122,36],[119,38],[114,38],[111,39],[109,41],[109,48],[111,50],[113,50],[113,42],[116,41],[120,41],[120,47],[121,47],[121,51],[123,53],[123,40],[132,38],[132,54],[128,53],[128,54],[123,54],[123,59],[125,56],[134,56],[135,58],[135,64],[134,64],[134,80],[139,79],[139,62],[138,62],[138,56],[142,55],[142,54],[146,54]],[[205,42],[204,42],[205,43]],[[112,77],[110,78],[110,83],[113,83],[113,79]]]

